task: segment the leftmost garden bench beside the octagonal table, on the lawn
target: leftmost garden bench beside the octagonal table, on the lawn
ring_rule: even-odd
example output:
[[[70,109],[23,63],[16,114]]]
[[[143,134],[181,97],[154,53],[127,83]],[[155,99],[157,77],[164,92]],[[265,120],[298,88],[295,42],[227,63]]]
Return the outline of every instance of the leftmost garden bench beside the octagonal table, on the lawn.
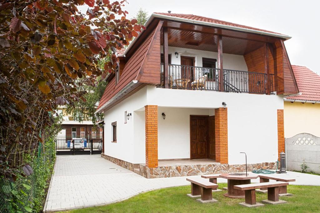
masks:
[[[187,181],[191,182],[191,194],[187,194],[189,197],[200,197],[197,201],[206,202],[216,202],[217,200],[212,199],[212,189],[218,188],[217,184],[209,182],[199,176],[188,177]]]

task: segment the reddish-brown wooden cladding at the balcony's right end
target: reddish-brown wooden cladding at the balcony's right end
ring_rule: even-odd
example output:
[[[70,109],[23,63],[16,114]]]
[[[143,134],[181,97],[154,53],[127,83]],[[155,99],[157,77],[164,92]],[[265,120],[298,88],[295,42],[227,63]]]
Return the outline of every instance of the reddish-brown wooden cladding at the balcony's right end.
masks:
[[[297,84],[293,72],[291,72],[291,64],[281,41],[269,44],[269,47],[271,47],[268,48],[269,72],[277,76],[276,79],[272,79],[273,88],[271,89],[277,91],[277,94],[289,95],[298,93]],[[245,54],[244,60],[249,72],[265,73],[264,47]]]

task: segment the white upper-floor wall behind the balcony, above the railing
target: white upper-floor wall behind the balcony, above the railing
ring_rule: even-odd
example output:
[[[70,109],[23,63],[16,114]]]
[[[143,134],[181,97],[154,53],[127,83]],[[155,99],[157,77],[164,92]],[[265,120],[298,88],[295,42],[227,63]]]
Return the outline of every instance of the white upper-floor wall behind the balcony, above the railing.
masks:
[[[163,53],[163,46],[160,47],[161,53]],[[187,51],[187,52],[185,52]],[[178,58],[175,56],[175,52],[183,52],[180,53]],[[168,54],[171,54],[171,64],[181,64],[180,56],[189,56],[195,57],[196,67],[202,67],[202,58],[211,58],[218,59],[218,52],[210,52],[203,50],[194,50],[180,47],[168,47]],[[244,57],[242,55],[233,55],[222,53],[223,56],[223,68],[224,69],[234,69],[234,70],[242,70],[248,71],[248,67],[245,63]],[[217,67],[217,66],[216,66]]]

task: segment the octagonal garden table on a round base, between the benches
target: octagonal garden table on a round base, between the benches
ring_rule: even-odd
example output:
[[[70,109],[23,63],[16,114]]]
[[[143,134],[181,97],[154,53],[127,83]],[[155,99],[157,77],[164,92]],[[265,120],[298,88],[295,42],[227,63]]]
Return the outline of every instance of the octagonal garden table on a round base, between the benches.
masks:
[[[241,175],[230,175],[230,174],[241,174]],[[234,189],[234,185],[243,185],[250,184],[251,179],[257,179],[258,175],[248,173],[248,176],[245,173],[223,173],[220,174],[221,178],[225,178],[228,180],[228,193],[223,194],[229,198],[244,198],[244,191]]]

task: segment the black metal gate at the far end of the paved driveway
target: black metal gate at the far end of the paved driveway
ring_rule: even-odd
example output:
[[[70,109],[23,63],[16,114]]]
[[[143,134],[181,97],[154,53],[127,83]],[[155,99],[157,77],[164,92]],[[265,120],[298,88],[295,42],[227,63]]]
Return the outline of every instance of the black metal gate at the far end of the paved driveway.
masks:
[[[101,154],[102,138],[92,138],[91,136],[76,137],[57,136],[55,139],[57,155],[75,155],[75,154]]]

